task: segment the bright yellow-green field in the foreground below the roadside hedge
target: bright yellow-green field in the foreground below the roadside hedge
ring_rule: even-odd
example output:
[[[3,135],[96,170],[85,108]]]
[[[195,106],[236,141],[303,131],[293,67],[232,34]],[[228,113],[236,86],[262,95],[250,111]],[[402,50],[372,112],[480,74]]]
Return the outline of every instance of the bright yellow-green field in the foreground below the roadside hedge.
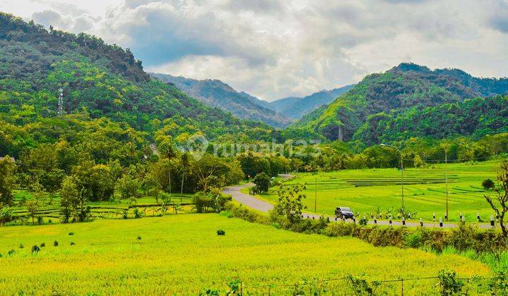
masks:
[[[226,235],[218,236],[219,229]],[[31,247],[42,242],[46,246],[30,254]],[[20,249],[20,244],[25,247]],[[15,253],[8,255],[11,249]],[[0,253],[4,295],[197,294],[205,288],[224,292],[226,283],[236,278],[246,290],[266,293],[267,287],[255,286],[291,285],[302,278],[340,278],[347,273],[365,273],[369,280],[435,276],[444,268],[456,270],[461,277],[489,273],[483,264],[457,255],[291,233],[219,214],[4,227]],[[419,294],[435,290],[435,283],[408,281],[404,289]],[[344,282],[329,285],[339,287]],[[282,294],[288,287],[270,289]],[[398,293],[400,285],[385,283],[378,289]]]

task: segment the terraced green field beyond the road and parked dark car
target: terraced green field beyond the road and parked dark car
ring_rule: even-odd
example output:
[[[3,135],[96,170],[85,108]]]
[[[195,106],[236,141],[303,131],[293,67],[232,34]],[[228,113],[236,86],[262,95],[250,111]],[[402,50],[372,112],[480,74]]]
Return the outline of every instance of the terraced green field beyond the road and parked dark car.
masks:
[[[460,214],[467,221],[476,221],[480,213],[483,221],[494,214],[485,202],[485,190],[481,183],[486,178],[496,180],[499,161],[471,164],[448,164],[449,173],[449,220],[459,221]],[[407,168],[404,170],[404,199],[406,209],[416,211],[418,218],[426,221],[436,214],[444,218],[446,213],[446,190],[444,164],[429,168]],[[337,206],[349,206],[353,211],[370,215],[378,210],[386,211],[401,207],[401,172],[395,168],[344,170],[330,173],[297,173],[294,180],[286,184],[306,183],[306,211],[313,212],[317,183],[317,210],[322,214],[334,214]],[[277,188],[262,199],[274,203]]]

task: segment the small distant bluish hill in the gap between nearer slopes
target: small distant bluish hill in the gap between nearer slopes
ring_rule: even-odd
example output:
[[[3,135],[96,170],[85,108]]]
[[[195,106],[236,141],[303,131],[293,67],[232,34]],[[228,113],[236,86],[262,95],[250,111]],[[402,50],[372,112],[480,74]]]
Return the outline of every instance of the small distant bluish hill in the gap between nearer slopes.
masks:
[[[333,90],[322,90],[309,94],[306,97],[287,97],[270,102],[270,108],[291,119],[300,119],[319,108],[337,99],[341,94],[351,90],[354,85],[346,85]]]

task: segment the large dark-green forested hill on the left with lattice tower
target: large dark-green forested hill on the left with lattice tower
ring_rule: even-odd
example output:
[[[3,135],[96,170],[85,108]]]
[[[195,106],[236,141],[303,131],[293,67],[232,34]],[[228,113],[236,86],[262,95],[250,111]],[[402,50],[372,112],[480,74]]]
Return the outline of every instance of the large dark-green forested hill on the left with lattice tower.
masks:
[[[66,116],[56,116],[60,87]],[[0,13],[0,155],[77,139],[71,135],[93,123],[181,140],[201,133],[265,140],[273,132],[151,79],[128,49]]]

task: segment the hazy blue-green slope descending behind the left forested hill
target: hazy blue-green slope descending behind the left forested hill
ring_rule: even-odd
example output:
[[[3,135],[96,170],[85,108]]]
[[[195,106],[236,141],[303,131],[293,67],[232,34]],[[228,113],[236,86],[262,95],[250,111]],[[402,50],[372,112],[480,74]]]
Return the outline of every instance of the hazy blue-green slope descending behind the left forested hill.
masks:
[[[267,108],[267,102],[245,92],[237,92],[220,80],[195,80],[159,73],[153,73],[152,76],[163,82],[170,82],[202,103],[231,112],[238,118],[262,121],[279,128],[290,123],[289,119]]]

